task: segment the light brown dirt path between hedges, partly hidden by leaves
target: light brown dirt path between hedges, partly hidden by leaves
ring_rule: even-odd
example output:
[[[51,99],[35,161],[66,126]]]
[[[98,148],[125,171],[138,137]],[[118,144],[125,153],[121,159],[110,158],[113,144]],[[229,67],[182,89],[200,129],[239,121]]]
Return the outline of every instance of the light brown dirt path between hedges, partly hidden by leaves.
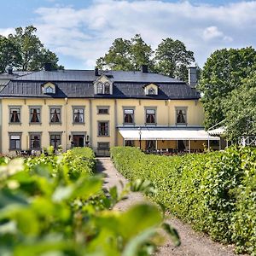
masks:
[[[109,158],[98,158],[96,168],[98,172],[102,172],[105,175],[104,186],[108,189],[113,186],[117,186],[121,191],[122,186],[119,183],[127,183],[128,181],[123,177],[113,166],[112,161]],[[147,201],[147,199],[140,193],[131,193],[128,199],[119,202],[115,207],[119,211],[125,211],[132,204],[139,201]],[[157,255],[177,255],[177,256],[235,256],[233,253],[233,247],[224,246],[217,242],[212,241],[205,235],[192,230],[188,224],[183,224],[177,218],[170,218],[167,221],[177,229],[179,236],[181,237],[182,245],[180,247],[174,247],[172,241],[167,240],[166,244],[159,249]]]

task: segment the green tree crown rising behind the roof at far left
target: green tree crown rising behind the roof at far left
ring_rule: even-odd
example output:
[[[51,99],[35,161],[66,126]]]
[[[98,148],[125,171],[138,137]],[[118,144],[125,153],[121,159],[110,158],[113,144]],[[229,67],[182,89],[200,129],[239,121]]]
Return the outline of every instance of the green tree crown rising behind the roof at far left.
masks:
[[[63,68],[57,64],[57,55],[44,48],[36,32],[37,28],[34,26],[17,27],[15,34],[0,37],[1,73],[9,66],[22,71],[37,71],[47,62],[50,62],[54,69]]]

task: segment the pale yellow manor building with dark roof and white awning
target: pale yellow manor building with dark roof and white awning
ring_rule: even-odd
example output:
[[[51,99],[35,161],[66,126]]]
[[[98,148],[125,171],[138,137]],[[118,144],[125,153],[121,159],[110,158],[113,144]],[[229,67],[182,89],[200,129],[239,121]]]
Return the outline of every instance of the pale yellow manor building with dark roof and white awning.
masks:
[[[1,74],[0,74],[1,77]],[[204,112],[190,84],[157,73],[51,70],[20,74],[0,92],[0,152],[126,145],[166,152],[197,151],[218,141],[203,129]],[[214,144],[214,143],[213,143]],[[33,151],[32,151],[33,150]]]

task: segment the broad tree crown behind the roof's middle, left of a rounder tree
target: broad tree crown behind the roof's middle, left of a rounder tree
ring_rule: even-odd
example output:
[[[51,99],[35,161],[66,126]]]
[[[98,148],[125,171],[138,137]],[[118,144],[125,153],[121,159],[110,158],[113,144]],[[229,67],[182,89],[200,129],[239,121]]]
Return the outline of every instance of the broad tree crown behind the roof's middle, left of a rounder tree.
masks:
[[[136,71],[142,65],[151,65],[151,47],[143,41],[140,35],[131,40],[116,38],[108,53],[96,61],[96,67],[112,70]]]

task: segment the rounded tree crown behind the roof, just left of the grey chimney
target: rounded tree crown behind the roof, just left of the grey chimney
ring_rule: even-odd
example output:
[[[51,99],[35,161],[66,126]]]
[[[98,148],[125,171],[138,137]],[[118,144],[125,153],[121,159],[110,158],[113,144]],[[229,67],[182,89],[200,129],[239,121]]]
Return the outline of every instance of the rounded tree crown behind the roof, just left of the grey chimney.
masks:
[[[187,81],[188,66],[195,58],[194,53],[187,50],[183,42],[166,38],[158,45],[154,61],[159,73]]]

